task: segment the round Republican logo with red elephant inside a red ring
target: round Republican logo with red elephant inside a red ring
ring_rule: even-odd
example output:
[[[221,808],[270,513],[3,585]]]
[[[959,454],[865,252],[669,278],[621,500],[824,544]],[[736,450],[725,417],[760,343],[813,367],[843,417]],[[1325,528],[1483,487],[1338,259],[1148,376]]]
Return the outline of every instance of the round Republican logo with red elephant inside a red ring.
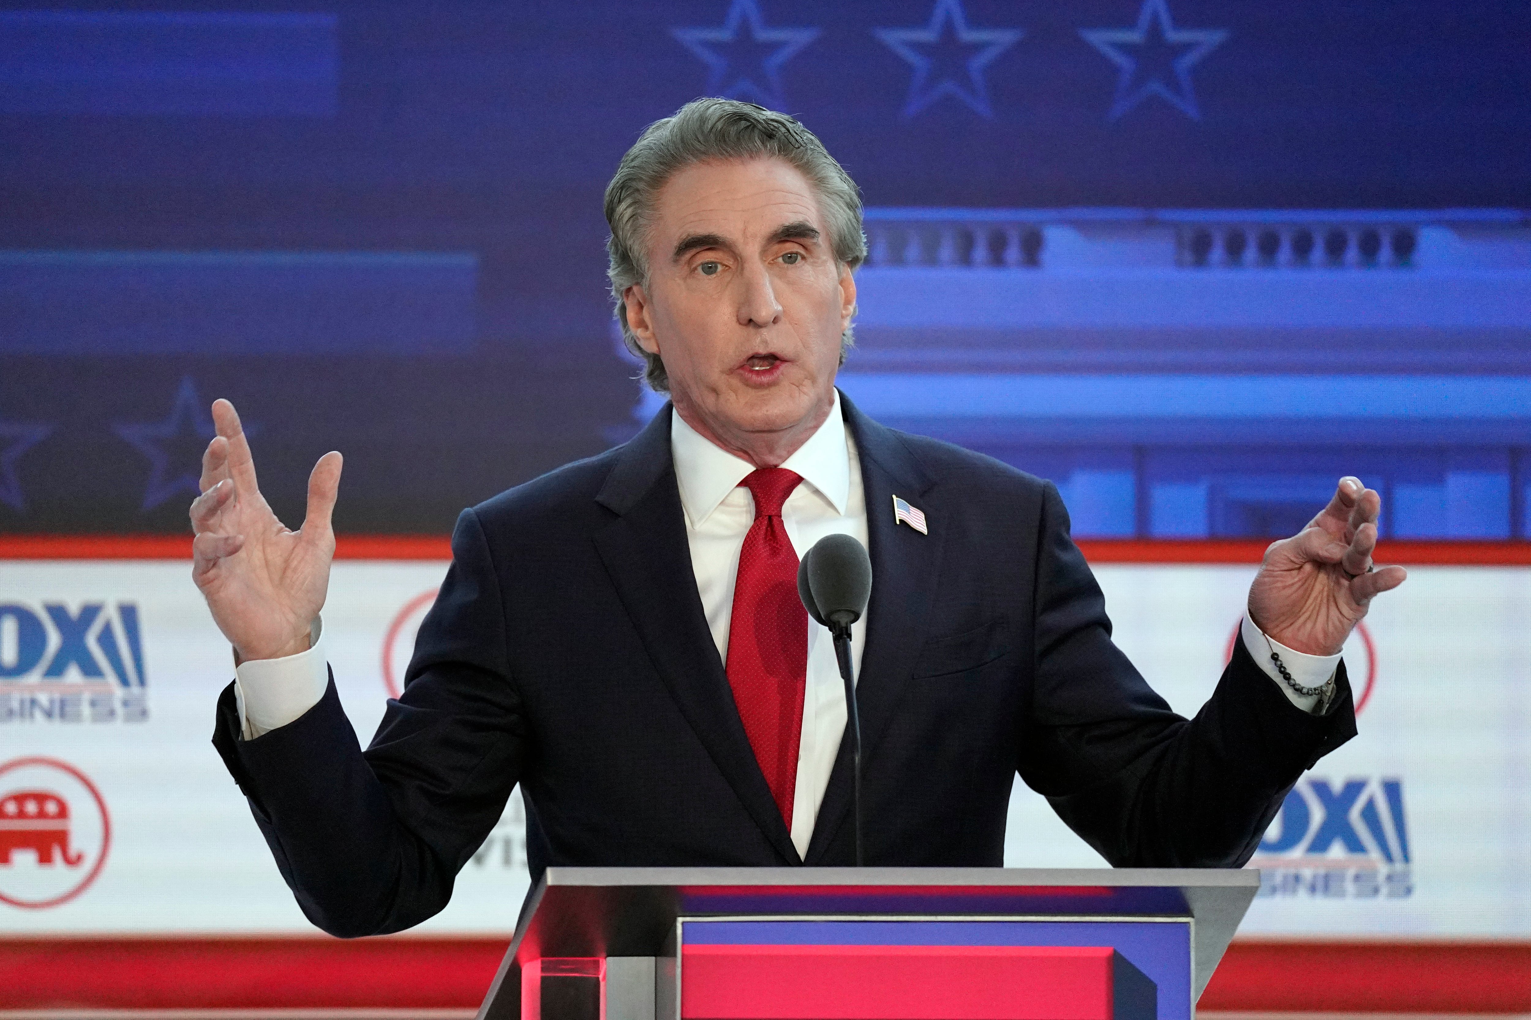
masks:
[[[106,800],[84,772],[44,757],[0,765],[0,902],[69,902],[101,873],[110,846]]]

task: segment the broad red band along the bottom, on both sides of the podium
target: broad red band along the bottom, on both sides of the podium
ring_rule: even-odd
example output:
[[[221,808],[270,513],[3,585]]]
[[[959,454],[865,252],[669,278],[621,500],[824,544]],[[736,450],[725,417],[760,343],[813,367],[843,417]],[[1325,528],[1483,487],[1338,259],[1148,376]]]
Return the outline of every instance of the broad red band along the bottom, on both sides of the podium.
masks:
[[[472,1009],[508,939],[0,939],[0,1009]],[[1229,947],[1200,1011],[1531,1012],[1531,942]]]

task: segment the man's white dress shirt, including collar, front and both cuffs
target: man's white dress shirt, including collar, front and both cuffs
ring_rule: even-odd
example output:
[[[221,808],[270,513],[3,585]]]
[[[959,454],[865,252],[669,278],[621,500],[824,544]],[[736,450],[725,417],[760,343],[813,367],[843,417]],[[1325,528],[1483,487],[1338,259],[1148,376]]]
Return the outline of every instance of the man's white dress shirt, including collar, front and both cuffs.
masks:
[[[720,450],[681,419],[671,417],[671,453],[675,480],[686,512],[686,540],[697,575],[697,592],[707,616],[707,627],[718,647],[718,659],[729,661],[729,622],[733,615],[733,581],[739,567],[744,535],[755,523],[755,500],[739,485],[755,465]],[[798,558],[819,538],[847,534],[868,544],[867,497],[862,489],[860,459],[856,442],[845,428],[841,398],[824,425],[781,465],[802,476],[782,505],[782,523]],[[890,509],[891,512],[891,509]],[[1338,655],[1304,655],[1271,641],[1245,615],[1245,647],[1281,693],[1304,711],[1318,708],[1320,696],[1303,696],[1281,679],[1271,653],[1281,656],[1292,679],[1303,687],[1320,687],[1335,673]],[[318,703],[329,684],[323,648],[323,627],[314,621],[312,647],[283,659],[257,659],[234,668],[234,697],[245,740],[285,726]],[[867,644],[867,615],[851,627],[851,661],[860,676],[862,648]],[[808,676],[802,703],[802,739],[798,745],[798,788],[792,807],[792,843],[807,856],[813,823],[830,783],[830,769],[839,754],[845,729],[845,691],[834,662],[830,632],[808,624]]]

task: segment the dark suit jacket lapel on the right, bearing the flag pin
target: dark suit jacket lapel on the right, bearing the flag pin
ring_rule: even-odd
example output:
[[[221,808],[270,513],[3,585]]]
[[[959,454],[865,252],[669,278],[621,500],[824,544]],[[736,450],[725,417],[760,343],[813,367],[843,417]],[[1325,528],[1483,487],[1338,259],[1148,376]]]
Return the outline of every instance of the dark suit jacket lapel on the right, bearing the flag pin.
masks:
[[[897,433],[862,414],[841,393],[845,424],[856,439],[862,488],[867,492],[867,531],[871,540],[871,603],[867,607],[867,647],[856,677],[856,707],[862,723],[862,780],[874,772],[877,740],[897,710],[905,682],[914,670],[914,656],[925,641],[925,625],[940,567],[940,505],[920,502],[934,480]],[[925,511],[929,534],[899,525],[893,517],[893,497],[916,503]],[[808,843],[807,862],[821,864],[836,832],[847,824],[851,807],[851,743],[841,742],[841,752],[830,772],[830,784],[819,806],[819,817]],[[863,824],[876,824],[863,818]]]

